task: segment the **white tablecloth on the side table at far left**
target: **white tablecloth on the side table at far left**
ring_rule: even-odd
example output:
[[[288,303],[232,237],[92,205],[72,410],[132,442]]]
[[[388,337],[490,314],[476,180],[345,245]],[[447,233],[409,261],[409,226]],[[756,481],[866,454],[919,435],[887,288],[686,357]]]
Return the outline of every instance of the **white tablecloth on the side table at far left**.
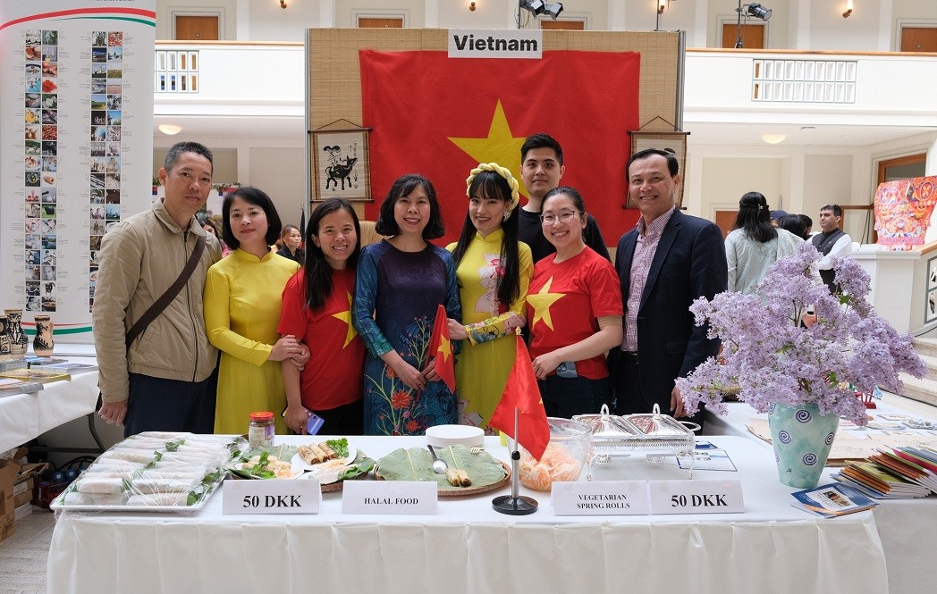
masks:
[[[32,394],[0,396],[0,452],[72,419],[94,413],[96,405],[97,371],[73,375],[69,381],[45,384],[44,389]]]

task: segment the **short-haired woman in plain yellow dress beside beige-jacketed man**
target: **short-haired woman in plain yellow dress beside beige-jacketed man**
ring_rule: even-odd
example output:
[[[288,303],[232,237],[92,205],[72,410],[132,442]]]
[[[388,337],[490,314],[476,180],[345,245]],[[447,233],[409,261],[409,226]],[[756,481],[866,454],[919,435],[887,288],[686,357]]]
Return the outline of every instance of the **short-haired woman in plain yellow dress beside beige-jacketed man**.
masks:
[[[286,408],[280,361],[302,367],[309,349],[276,326],[283,289],[300,268],[275,254],[280,217],[270,196],[239,187],[221,204],[222,235],[234,252],[208,270],[202,300],[208,339],[221,350],[215,432],[244,432],[250,413],[275,413],[277,433],[286,433],[278,414]]]

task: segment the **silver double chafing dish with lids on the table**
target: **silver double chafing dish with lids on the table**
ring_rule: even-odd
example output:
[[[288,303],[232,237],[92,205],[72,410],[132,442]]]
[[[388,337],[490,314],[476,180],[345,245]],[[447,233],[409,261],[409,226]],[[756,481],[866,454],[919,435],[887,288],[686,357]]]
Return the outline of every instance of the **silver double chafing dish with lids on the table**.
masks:
[[[693,477],[693,431],[700,426],[677,421],[662,414],[658,405],[650,414],[610,414],[602,405],[599,414],[577,414],[573,421],[592,429],[592,452],[587,458],[586,480],[592,480],[593,464],[616,464],[644,455],[648,462],[661,463],[666,456],[689,456],[688,478]]]

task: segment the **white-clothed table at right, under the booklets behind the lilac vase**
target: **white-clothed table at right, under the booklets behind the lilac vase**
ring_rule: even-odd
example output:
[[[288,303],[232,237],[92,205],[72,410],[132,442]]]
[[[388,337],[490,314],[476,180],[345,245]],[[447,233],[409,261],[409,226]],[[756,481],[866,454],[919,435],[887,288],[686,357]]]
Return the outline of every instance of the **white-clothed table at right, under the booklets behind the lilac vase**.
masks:
[[[883,400],[876,400],[877,408],[869,412],[910,414],[935,420],[937,409],[919,402],[902,407],[902,398],[885,395]],[[745,427],[752,417],[766,418],[765,414],[755,413],[744,402],[728,403],[728,414],[717,416],[706,411],[706,433],[708,435],[733,435],[751,439],[752,448],[771,452],[771,444],[754,437]],[[930,413],[930,414],[929,414]],[[710,439],[708,437],[703,439]],[[717,440],[719,438],[711,438]],[[835,469],[827,469],[825,477]],[[776,479],[777,480],[777,479]],[[823,479],[827,482],[826,479]],[[831,482],[831,481],[828,481]],[[923,500],[882,500],[872,510],[878,527],[888,567],[888,587],[892,594],[933,591],[930,573],[922,571],[929,567],[937,551],[937,497],[930,496]],[[836,520],[838,521],[838,520]]]

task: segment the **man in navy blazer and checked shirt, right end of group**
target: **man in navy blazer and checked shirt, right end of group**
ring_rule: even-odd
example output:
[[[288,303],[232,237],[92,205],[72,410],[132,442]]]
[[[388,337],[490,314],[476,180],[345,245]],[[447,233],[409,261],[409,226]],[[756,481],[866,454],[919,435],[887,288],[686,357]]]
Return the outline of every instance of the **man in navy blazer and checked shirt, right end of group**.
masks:
[[[618,240],[625,336],[609,354],[616,413],[650,413],[656,403],[678,418],[684,405],[675,380],[719,352],[719,340],[706,338],[707,326],[696,326],[689,308],[726,290],[725,244],[717,225],[675,208],[680,176],[672,152],[637,152],[627,171],[641,218]],[[693,418],[701,419],[702,411]]]

